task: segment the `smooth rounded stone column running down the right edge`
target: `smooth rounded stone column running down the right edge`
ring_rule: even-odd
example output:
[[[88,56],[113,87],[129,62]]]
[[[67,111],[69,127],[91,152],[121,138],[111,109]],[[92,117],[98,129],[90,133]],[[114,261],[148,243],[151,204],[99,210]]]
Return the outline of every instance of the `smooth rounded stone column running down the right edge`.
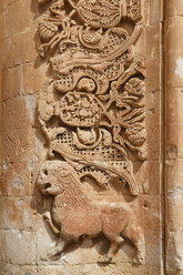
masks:
[[[165,231],[166,273],[183,274],[183,1],[166,1]]]

